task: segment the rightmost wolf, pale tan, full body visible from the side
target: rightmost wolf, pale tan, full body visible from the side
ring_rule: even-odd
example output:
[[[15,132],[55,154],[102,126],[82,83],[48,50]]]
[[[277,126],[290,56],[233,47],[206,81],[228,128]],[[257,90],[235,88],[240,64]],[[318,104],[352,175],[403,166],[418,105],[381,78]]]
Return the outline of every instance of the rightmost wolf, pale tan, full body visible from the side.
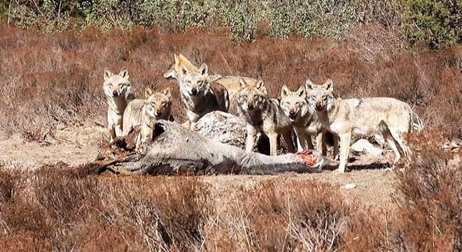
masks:
[[[330,79],[323,85],[315,85],[308,79],[305,88],[309,90],[308,101],[316,109],[323,127],[339,137],[337,172],[345,172],[351,137],[373,137],[374,134],[381,134],[393,149],[395,162],[402,155],[408,155],[401,134],[412,130],[415,113],[409,104],[391,97],[335,98]]]

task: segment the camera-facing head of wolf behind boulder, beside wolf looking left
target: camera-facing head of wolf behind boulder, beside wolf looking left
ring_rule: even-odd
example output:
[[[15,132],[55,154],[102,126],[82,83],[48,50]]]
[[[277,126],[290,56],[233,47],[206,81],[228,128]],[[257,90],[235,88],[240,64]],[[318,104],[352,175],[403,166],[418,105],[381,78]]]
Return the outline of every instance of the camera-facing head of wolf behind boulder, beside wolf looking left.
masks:
[[[186,71],[186,66],[183,66],[182,71]],[[179,78],[181,92],[186,92],[190,97],[208,94],[210,91],[208,71],[207,64],[204,63],[197,71],[190,71],[183,78]]]

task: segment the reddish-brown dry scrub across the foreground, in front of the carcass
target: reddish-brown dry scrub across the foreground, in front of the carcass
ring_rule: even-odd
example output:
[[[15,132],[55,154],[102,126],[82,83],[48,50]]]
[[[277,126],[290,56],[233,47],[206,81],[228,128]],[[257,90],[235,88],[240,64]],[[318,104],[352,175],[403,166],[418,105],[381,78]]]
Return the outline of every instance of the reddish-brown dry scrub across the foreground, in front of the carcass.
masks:
[[[289,177],[217,194],[200,177],[2,169],[0,249],[459,251],[461,167],[425,146],[414,160],[396,172],[391,213],[345,201],[328,183]]]

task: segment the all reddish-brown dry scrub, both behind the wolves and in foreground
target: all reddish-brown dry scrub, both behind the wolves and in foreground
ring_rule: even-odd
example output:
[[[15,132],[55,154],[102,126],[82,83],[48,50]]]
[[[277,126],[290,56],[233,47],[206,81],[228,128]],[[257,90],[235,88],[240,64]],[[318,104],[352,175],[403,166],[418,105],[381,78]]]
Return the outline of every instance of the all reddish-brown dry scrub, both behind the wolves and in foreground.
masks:
[[[138,97],[183,53],[209,72],[262,76],[269,95],[332,78],[341,97],[412,104],[433,131],[409,138],[412,165],[395,169],[397,206],[367,209],[337,186],[276,177],[216,195],[198,177],[87,176],[0,162],[0,251],[459,251],[460,162],[434,145],[462,139],[462,48],[407,50],[393,29],[347,38],[233,44],[225,29],[95,29],[41,35],[0,27],[1,132],[30,141],[59,125],[106,125],[103,69],[125,66]],[[184,119],[179,99],[174,114]],[[435,141],[438,136],[439,141]],[[459,153],[460,155],[461,153]],[[451,161],[452,160],[452,161]],[[405,172],[400,172],[404,168]]]

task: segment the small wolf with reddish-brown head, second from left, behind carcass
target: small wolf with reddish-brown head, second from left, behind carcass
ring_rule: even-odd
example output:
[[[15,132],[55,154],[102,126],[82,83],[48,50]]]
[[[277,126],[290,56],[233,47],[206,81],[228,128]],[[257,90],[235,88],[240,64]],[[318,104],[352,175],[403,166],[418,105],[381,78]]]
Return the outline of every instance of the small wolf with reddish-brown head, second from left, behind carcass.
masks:
[[[174,120],[172,116],[172,92],[169,87],[162,92],[154,92],[151,87],[144,90],[145,99],[134,99],[127,105],[123,114],[123,136],[130,134],[137,125],[142,125],[143,120]],[[141,130],[143,127],[141,127]]]

